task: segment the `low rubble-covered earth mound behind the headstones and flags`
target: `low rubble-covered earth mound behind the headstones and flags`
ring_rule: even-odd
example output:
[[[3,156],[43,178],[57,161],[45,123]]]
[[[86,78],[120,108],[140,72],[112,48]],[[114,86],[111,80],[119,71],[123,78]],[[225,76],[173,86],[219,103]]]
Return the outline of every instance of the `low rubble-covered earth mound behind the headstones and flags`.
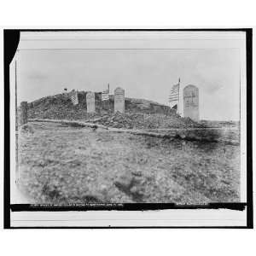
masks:
[[[113,113],[113,95],[109,106],[103,106],[101,93],[96,93],[96,113],[87,113],[86,93],[79,91],[79,104],[74,106],[67,94],[46,96],[28,103],[29,119],[72,119],[101,123],[117,128],[187,128],[203,125],[180,117],[172,108],[144,99],[125,98],[125,114]]]

